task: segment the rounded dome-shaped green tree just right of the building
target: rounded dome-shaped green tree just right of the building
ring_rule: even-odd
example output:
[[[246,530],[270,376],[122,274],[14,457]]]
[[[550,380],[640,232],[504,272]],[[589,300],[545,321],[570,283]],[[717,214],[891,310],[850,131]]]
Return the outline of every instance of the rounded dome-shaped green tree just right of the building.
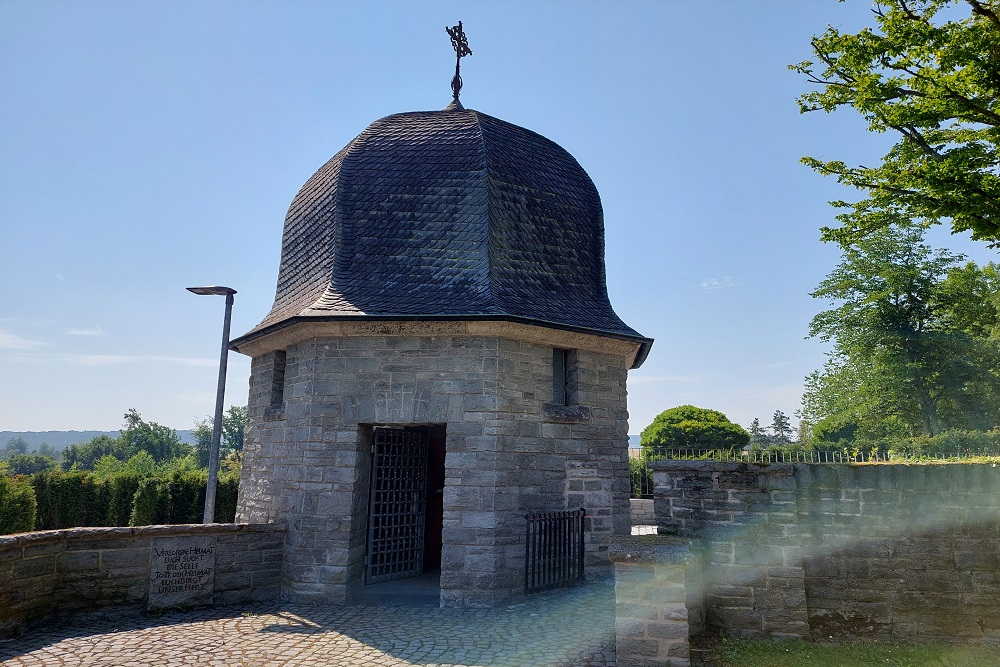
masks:
[[[717,410],[681,405],[664,410],[642,430],[643,447],[719,449],[744,447],[750,434]]]

